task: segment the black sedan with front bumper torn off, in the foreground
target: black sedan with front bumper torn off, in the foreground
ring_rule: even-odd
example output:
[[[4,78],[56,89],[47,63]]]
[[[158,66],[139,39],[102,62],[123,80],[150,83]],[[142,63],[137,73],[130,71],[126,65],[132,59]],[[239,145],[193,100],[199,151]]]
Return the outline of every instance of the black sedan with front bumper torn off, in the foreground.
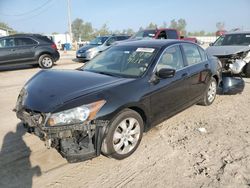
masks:
[[[187,107],[210,105],[217,59],[178,40],[124,42],[78,70],[42,70],[23,87],[16,114],[69,162],[131,155],[143,132]]]

